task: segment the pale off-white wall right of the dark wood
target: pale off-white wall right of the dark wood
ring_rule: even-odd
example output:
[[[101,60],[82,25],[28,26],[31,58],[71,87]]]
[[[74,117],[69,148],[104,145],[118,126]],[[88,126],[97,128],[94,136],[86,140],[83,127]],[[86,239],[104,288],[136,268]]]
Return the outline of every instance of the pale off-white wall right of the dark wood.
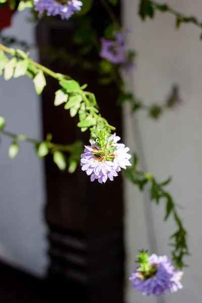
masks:
[[[188,230],[188,244],[192,256],[183,277],[184,289],[169,294],[160,302],[198,303],[201,301],[201,179],[202,179],[202,42],[201,30],[194,25],[182,25],[174,29],[174,17],[158,13],[155,20],[142,23],[136,15],[137,0],[124,0],[125,25],[131,28],[130,47],[135,48],[138,57],[129,86],[147,104],[163,102],[170,84],[179,83],[184,103],[175,112],[167,112],[160,121],[154,122],[144,113],[128,119],[129,108],[125,108],[125,134],[127,144],[137,150],[145,168],[164,180],[173,176],[168,187],[177,204]],[[201,0],[167,0],[173,8],[201,20]],[[140,142],[141,141],[141,142]],[[164,205],[149,207],[147,194],[141,195],[126,182],[126,274],[134,268],[138,249],[148,248],[150,253],[170,255],[168,237],[175,230],[172,219],[162,223]],[[147,218],[147,219],[146,219]],[[149,224],[146,222],[149,221]],[[154,223],[154,228],[151,223]],[[149,226],[148,226],[149,225]],[[151,238],[154,237],[154,241]],[[156,242],[156,243],[155,243]],[[152,297],[141,297],[127,282],[127,302],[156,302]]]

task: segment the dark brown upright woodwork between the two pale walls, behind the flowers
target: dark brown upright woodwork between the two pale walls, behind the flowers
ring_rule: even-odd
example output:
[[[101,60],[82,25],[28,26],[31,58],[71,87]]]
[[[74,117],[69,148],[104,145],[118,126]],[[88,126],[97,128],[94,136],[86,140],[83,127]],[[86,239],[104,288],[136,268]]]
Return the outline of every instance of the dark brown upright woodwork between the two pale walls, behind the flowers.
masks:
[[[37,40],[40,45],[63,48],[75,55],[74,21],[39,23]],[[97,25],[100,27],[100,23]],[[40,62],[59,73],[71,75],[80,84],[89,83],[100,106],[100,112],[121,134],[121,110],[117,107],[114,86],[100,86],[94,72],[73,68],[64,61],[49,62],[40,53]],[[57,81],[47,79],[42,94],[43,133],[51,132],[53,141],[72,143],[89,133],[77,128],[77,118],[71,118],[63,106],[54,107]],[[49,227],[50,265],[47,281],[53,298],[70,302],[123,303],[124,245],[123,197],[121,176],[106,184],[90,182],[78,167],[74,174],[61,172],[52,156],[45,160],[47,203],[45,219]],[[70,299],[73,298],[74,300]]]

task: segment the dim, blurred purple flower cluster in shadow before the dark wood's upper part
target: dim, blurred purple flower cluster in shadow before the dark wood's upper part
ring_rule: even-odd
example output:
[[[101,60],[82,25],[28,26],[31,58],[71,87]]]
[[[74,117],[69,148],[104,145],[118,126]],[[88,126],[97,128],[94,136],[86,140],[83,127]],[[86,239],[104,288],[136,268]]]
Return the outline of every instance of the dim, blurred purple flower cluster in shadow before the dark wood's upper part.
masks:
[[[109,60],[113,64],[121,64],[122,68],[129,70],[133,64],[128,58],[128,49],[124,42],[124,35],[122,32],[116,32],[114,36],[115,40],[100,39],[101,51],[99,56]]]

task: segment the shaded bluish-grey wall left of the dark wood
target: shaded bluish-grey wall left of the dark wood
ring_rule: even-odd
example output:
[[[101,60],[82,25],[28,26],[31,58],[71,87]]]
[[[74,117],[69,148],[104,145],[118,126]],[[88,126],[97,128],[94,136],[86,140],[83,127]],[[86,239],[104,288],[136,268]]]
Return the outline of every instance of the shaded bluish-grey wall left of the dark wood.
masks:
[[[26,10],[16,14],[5,35],[34,42],[34,24],[27,23]],[[30,57],[37,60],[36,51]],[[7,120],[7,130],[40,138],[40,100],[28,77],[0,78],[0,115]],[[0,146],[0,258],[37,276],[47,265],[44,173],[30,143],[20,143],[20,153],[11,160],[11,139],[1,136]]]

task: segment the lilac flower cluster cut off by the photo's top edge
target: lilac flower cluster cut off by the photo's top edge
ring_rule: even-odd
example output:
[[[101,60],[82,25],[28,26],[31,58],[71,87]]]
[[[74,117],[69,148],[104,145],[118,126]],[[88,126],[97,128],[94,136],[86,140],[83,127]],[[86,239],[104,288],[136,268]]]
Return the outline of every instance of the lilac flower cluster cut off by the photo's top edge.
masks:
[[[61,19],[69,19],[81,10],[82,5],[79,0],[34,0],[34,10],[39,12],[39,16],[46,12],[47,16],[60,15]]]

